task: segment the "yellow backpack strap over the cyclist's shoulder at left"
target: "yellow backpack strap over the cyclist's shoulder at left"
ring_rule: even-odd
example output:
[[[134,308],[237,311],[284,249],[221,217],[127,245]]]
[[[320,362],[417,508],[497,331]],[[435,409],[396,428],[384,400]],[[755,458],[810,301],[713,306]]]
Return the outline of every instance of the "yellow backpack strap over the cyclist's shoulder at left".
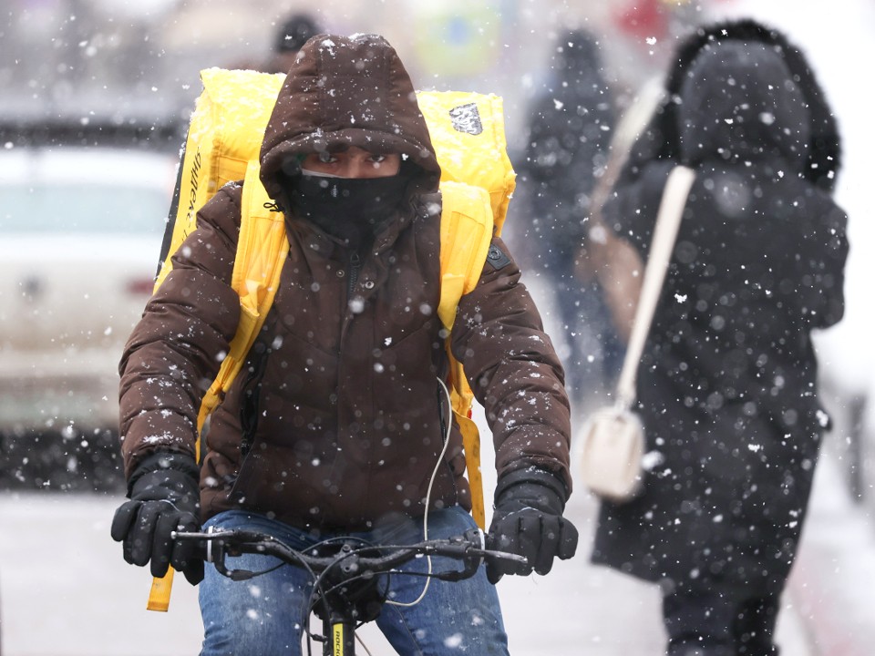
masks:
[[[219,374],[201,401],[199,435],[206,418],[240,373],[246,354],[262,329],[289,251],[283,213],[268,209],[271,200],[258,174],[258,162],[250,162],[243,180],[240,236],[231,280],[234,291],[240,296],[240,323]]]

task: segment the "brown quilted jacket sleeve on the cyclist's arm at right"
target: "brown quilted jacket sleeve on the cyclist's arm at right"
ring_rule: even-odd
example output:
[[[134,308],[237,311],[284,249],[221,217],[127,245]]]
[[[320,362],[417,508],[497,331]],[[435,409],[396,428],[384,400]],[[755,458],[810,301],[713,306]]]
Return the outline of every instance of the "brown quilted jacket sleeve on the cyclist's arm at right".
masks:
[[[478,286],[458,304],[452,351],[486,411],[499,477],[536,466],[571,490],[564,372],[520,269],[498,238]]]

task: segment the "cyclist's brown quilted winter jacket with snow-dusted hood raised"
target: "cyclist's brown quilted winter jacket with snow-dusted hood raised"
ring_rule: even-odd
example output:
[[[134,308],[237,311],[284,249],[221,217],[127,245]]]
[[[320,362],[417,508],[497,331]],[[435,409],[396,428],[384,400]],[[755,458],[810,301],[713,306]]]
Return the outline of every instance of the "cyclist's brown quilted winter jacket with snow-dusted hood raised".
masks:
[[[407,200],[361,258],[286,212],[280,289],[201,453],[203,519],[246,508],[294,526],[366,528],[424,510],[448,421],[438,378],[440,169],[407,71],[378,36],[316,36],[290,70],[262,144],[262,182],[283,204],[300,156],[358,146],[402,154]],[[404,166],[404,165],[403,165]],[[240,315],[229,286],[241,185],[221,189],[173,259],[120,364],[128,476],[159,451],[193,456],[206,386]],[[537,466],[571,489],[561,365],[520,271],[496,238],[459,302],[452,350],[484,405],[499,477]],[[493,263],[490,263],[493,262]],[[451,421],[451,419],[449,420]],[[453,425],[432,507],[470,508]]]

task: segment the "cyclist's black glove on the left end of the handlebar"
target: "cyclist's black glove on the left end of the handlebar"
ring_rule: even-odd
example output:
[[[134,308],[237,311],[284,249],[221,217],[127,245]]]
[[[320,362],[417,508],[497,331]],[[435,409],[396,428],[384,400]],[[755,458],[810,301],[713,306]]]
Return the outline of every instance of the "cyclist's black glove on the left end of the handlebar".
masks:
[[[131,565],[142,567],[151,560],[154,577],[164,576],[172,565],[191,585],[201,582],[201,546],[170,538],[171,531],[201,530],[198,477],[194,458],[184,454],[155,454],[139,464],[130,477],[130,500],[116,510],[110,531]]]

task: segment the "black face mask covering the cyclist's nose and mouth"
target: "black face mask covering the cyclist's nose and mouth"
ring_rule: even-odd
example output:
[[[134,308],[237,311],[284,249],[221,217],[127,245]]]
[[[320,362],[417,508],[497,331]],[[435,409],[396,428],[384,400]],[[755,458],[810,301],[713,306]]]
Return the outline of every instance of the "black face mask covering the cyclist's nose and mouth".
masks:
[[[289,202],[295,216],[358,249],[395,215],[409,177],[331,178],[301,175],[289,179]]]

